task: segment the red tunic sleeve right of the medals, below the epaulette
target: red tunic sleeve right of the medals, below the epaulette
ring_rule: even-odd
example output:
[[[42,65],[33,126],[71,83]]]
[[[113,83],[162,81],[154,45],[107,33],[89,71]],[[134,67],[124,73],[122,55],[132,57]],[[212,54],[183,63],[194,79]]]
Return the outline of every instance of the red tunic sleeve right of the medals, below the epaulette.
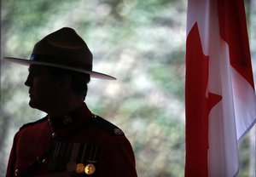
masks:
[[[136,177],[135,157],[125,136],[113,136],[102,146],[97,176]]]

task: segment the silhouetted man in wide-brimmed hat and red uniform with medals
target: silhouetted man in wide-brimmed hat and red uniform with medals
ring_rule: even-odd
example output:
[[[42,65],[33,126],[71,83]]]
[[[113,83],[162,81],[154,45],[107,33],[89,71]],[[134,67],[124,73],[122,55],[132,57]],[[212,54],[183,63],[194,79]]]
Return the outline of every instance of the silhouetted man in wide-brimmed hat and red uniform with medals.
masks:
[[[84,103],[90,77],[115,78],[92,71],[90,49],[73,29],[44,37],[30,60],[4,59],[29,66],[29,106],[47,113],[15,134],[7,177],[137,176],[125,134]]]

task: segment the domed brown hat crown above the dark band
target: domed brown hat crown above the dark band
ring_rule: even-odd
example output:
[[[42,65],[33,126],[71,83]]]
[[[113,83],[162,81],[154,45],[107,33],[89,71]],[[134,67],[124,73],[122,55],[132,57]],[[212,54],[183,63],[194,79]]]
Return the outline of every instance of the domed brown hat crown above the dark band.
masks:
[[[50,33],[35,44],[32,55],[49,57],[54,60],[92,65],[92,54],[84,40],[72,28],[63,27]]]

